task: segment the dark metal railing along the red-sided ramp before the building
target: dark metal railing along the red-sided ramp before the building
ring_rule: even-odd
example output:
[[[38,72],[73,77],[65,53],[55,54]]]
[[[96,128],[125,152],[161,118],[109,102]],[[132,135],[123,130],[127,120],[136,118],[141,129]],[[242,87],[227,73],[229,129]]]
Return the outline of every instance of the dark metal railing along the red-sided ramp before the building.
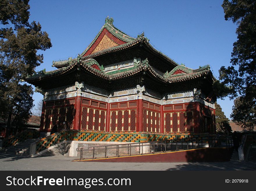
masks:
[[[102,146],[88,146],[88,147],[78,147],[77,151],[80,151],[80,160],[83,158],[83,152],[92,152],[92,158],[95,159],[95,151],[104,151],[104,157],[108,158],[107,151],[114,150],[115,157],[120,157],[120,150],[126,150],[122,152],[122,156],[131,156],[131,155],[143,155],[155,152],[170,152],[170,151],[179,151],[179,150],[190,150],[190,149],[199,149],[204,147],[232,147],[232,137],[196,137],[196,138],[183,138],[175,140],[163,140],[163,141],[151,141],[151,142],[139,142],[139,143],[126,143],[126,144],[111,144],[111,145],[102,145]],[[136,153],[132,153],[132,148],[135,148]],[[137,148],[137,149],[136,149]],[[113,156],[112,153],[112,156]],[[98,153],[99,154],[99,153]],[[102,153],[101,153],[102,154]]]

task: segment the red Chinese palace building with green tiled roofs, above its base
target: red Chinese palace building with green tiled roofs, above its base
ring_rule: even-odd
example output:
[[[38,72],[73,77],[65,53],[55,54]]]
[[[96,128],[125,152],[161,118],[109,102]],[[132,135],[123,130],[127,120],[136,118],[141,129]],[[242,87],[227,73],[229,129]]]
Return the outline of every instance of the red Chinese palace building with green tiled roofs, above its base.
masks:
[[[26,79],[44,95],[40,132],[71,130],[215,134],[216,80],[209,65],[191,69],[105,24],[77,58]]]

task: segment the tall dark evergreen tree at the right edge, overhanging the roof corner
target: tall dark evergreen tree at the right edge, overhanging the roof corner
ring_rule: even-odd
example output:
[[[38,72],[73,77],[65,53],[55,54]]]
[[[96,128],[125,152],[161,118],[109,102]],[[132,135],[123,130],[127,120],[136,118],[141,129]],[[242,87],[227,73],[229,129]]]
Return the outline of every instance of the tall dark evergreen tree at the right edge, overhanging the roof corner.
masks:
[[[231,117],[248,128],[256,124],[256,1],[224,0],[222,7],[225,20],[232,20],[238,26],[237,41],[231,53],[232,66],[221,67],[221,83],[217,81],[215,85],[219,97],[239,96]]]

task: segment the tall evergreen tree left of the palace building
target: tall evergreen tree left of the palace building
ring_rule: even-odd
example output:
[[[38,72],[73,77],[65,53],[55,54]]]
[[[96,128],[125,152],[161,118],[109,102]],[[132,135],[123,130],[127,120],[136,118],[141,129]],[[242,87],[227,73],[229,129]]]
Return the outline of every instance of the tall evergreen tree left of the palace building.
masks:
[[[31,115],[33,89],[22,81],[43,62],[37,51],[51,47],[41,25],[28,22],[28,2],[0,1],[0,117],[8,119],[7,136],[11,128],[21,126]]]

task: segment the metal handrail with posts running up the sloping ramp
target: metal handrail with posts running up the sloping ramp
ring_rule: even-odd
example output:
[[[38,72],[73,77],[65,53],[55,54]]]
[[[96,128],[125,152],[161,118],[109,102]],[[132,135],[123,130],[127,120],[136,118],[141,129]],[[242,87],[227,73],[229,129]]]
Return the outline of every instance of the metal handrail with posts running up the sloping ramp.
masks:
[[[127,148],[127,155],[131,156],[131,148],[134,147],[139,147],[139,154],[143,155],[146,153],[143,153],[143,147],[148,147],[150,146],[150,152],[149,153],[155,153],[155,146],[160,145],[161,146],[161,152],[166,152],[166,146],[168,144],[171,144],[171,151],[173,151],[173,144],[176,144],[176,151],[178,150],[189,150],[189,149],[194,149],[193,148],[193,142],[195,142],[195,144],[198,145],[201,143],[201,148],[203,148],[203,142],[205,140],[208,140],[208,147],[218,147],[221,145],[221,140],[224,139],[226,142],[226,145],[228,145],[230,147],[230,145],[232,146],[232,137],[221,137],[221,136],[217,136],[217,137],[193,137],[193,138],[182,138],[182,139],[174,139],[174,140],[161,140],[161,141],[150,141],[150,142],[135,142],[135,143],[126,143],[126,144],[111,144],[111,145],[102,145],[102,146],[89,146],[89,147],[78,147],[76,150],[80,151],[80,160],[82,160],[83,157],[83,151],[93,151],[93,158],[94,159],[94,155],[95,155],[95,151],[99,151],[99,150],[105,150],[105,158],[107,158],[107,150],[109,149],[116,149],[116,156],[119,157],[119,149],[124,149]],[[210,144],[211,141],[211,144]],[[186,142],[187,147],[186,149],[183,149],[183,143]],[[178,144],[181,143],[181,149],[178,149]],[[189,148],[189,143],[191,143],[191,148]],[[164,145],[164,151],[162,149]],[[151,152],[151,146],[153,146],[153,152]],[[99,148],[99,147],[104,147],[104,148]],[[111,148],[108,148],[111,147]],[[174,150],[174,151],[175,151]],[[138,154],[136,154],[138,155]]]

